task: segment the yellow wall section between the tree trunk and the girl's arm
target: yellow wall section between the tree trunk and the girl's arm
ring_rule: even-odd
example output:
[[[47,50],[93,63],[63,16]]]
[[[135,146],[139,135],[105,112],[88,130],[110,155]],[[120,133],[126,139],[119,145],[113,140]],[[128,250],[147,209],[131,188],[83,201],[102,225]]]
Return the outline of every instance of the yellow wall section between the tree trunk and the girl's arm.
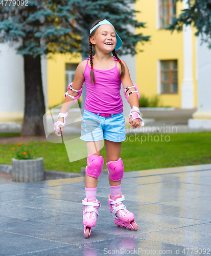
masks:
[[[50,55],[48,56],[50,57]],[[64,93],[67,91],[65,87],[65,64],[79,63],[82,60],[80,54],[71,55],[55,54],[48,59],[48,105],[49,108],[62,104],[64,101]]]

